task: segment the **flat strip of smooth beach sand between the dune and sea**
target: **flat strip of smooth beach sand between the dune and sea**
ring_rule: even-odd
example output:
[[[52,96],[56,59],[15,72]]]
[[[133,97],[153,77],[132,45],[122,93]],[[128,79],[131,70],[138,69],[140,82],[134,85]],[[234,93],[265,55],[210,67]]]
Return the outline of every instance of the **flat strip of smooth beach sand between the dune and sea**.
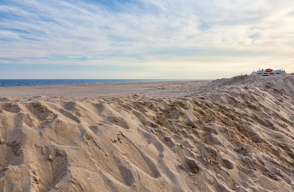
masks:
[[[194,93],[208,80],[161,81],[147,83],[111,83],[91,85],[56,85],[43,87],[0,87],[0,97],[68,96],[116,97],[133,94],[148,96],[186,96]]]

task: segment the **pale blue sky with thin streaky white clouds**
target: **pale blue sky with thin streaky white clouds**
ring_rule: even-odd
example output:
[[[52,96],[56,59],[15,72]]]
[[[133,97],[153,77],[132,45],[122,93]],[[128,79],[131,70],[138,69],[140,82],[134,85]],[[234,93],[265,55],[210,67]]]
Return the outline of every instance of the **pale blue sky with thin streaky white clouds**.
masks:
[[[294,72],[293,0],[0,0],[0,79]]]

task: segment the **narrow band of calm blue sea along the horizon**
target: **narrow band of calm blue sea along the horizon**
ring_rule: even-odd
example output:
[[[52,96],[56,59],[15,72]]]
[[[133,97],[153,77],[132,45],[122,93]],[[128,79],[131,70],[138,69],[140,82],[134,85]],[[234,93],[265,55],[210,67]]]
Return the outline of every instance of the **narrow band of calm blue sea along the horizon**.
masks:
[[[0,87],[80,85],[98,83],[131,83],[155,81],[180,81],[180,79],[0,79]]]

